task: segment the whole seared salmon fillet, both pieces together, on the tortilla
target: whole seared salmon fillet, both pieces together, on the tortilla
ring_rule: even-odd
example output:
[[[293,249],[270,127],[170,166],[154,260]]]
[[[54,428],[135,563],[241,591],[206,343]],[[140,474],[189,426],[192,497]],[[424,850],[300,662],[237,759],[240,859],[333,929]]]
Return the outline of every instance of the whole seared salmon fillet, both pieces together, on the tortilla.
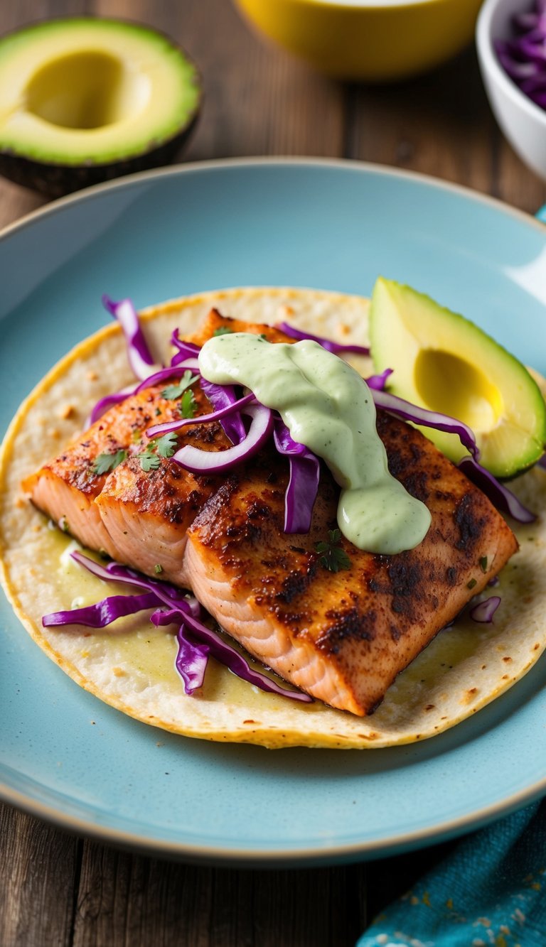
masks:
[[[209,314],[191,341],[226,326],[292,341],[270,327]],[[212,407],[198,382],[195,415]],[[500,513],[437,448],[404,421],[378,412],[389,469],[430,510],[415,549],[374,555],[343,537],[350,567],[331,572],[317,545],[337,527],[338,488],[320,473],[311,529],[283,532],[288,461],[271,448],[230,474],[195,475],[172,459],[142,469],[137,454],[152,424],[179,418],[165,384],[107,411],[61,456],[28,477],[36,507],[62,522],[82,545],[188,588],[244,647],[287,681],[357,715],[381,702],[396,675],[495,576],[518,548]],[[219,423],[188,425],[179,447],[222,451]],[[100,454],[126,451],[109,474]]]

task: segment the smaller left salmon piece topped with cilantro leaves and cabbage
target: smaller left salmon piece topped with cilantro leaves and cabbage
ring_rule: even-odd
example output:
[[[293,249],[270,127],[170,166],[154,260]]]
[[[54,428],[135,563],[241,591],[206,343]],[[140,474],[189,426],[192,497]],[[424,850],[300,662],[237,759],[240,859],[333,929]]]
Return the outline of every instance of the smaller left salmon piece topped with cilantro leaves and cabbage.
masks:
[[[271,326],[229,319],[214,309],[194,341],[201,344],[220,328],[263,333],[272,342],[293,341]],[[169,384],[145,388],[110,408],[22,487],[38,509],[82,545],[151,575],[160,563],[166,580],[185,584],[186,530],[219,481],[194,476],[162,457],[157,470],[147,473],[140,467],[136,455],[149,443],[146,428],[180,418],[178,402],[162,396]],[[209,399],[198,385],[191,390],[195,417],[209,414]],[[184,443],[210,451],[231,446],[220,424],[188,425],[178,434],[178,445]],[[97,457],[117,451],[127,451],[128,458],[110,474],[95,474]]]

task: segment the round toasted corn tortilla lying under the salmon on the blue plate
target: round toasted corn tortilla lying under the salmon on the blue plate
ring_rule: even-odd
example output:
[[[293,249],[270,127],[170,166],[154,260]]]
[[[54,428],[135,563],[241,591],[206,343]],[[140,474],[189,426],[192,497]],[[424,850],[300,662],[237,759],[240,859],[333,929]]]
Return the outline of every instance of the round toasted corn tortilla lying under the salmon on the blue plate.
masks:
[[[215,306],[225,315],[276,323],[366,345],[368,300],[316,290],[232,289],[173,300],[142,313],[157,362],[169,338],[195,331]],[[360,356],[349,361],[372,371]],[[546,472],[535,468],[511,484],[538,513],[516,527],[520,551],[492,593],[501,606],[491,624],[460,616],[403,671],[373,716],[359,718],[319,701],[300,705],[264,693],[210,659],[205,685],[184,693],[174,670],[172,632],[143,616],[112,630],[44,629],[45,613],[119,593],[83,572],[68,553],[76,545],[22,496],[20,483],[82,429],[91,406],[134,382],[116,324],[83,341],[51,369],[12,421],[0,456],[2,581],[17,616],[43,651],[78,685],[146,724],[187,737],[250,742],[269,748],[378,748],[425,740],[469,717],[537,662],[546,647]],[[482,594],[482,599],[486,598]]]

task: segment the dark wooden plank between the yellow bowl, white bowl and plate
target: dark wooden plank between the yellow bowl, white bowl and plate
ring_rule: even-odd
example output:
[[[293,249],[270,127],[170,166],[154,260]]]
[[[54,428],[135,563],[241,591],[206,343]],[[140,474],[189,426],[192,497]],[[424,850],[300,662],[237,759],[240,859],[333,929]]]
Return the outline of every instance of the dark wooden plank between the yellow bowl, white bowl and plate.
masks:
[[[346,153],[494,194],[534,213],[546,188],[490,111],[472,48],[426,76],[350,90]]]

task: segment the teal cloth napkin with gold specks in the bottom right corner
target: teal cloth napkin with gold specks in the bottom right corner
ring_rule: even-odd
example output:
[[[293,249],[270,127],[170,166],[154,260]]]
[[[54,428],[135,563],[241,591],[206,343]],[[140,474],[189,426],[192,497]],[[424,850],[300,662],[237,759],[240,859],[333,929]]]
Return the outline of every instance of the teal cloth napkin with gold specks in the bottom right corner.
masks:
[[[467,835],[357,947],[546,947],[546,799]]]

